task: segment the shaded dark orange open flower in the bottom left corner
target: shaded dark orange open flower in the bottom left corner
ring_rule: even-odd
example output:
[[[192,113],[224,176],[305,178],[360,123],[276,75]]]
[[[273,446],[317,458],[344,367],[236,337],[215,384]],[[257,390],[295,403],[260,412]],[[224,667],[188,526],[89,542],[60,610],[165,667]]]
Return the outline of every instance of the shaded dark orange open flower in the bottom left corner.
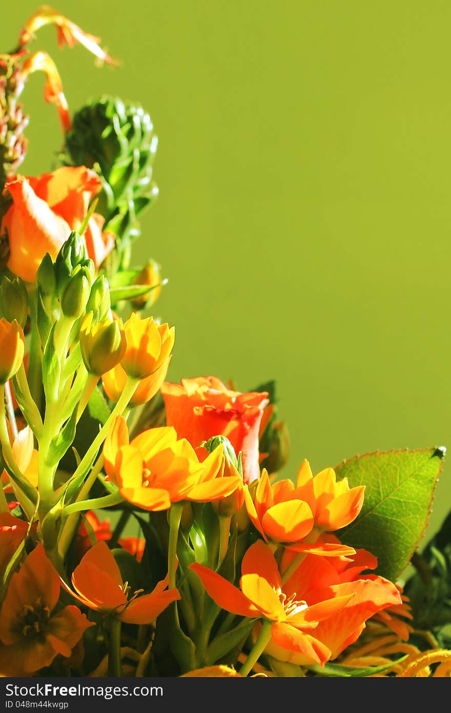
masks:
[[[50,666],[61,654],[68,657],[88,622],[78,607],[53,613],[60,580],[42,545],[28,555],[11,577],[0,612],[0,671],[4,676],[26,676]]]

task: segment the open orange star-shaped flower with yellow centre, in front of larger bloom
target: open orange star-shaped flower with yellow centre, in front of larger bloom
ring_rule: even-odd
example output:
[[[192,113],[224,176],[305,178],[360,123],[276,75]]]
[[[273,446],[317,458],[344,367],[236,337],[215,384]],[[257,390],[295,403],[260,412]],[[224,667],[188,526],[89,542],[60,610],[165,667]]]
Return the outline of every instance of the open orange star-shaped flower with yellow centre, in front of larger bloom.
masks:
[[[355,597],[354,592],[341,595],[326,590],[322,600],[307,603],[301,591],[289,593],[281,584],[271,549],[261,540],[244,555],[239,589],[204,565],[194,563],[190,569],[222,609],[272,622],[271,640],[286,651],[287,657],[301,654],[319,664],[329,660],[331,651],[310,632],[319,622],[336,617]]]

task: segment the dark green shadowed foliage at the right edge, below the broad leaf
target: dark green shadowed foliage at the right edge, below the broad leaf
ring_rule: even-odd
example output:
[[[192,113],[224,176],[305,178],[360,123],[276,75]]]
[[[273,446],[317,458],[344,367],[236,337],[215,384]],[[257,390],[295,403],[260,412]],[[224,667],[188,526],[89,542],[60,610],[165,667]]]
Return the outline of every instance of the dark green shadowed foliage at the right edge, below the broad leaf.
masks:
[[[451,648],[451,513],[422,554],[413,558],[415,575],[405,585],[415,629],[433,633]]]

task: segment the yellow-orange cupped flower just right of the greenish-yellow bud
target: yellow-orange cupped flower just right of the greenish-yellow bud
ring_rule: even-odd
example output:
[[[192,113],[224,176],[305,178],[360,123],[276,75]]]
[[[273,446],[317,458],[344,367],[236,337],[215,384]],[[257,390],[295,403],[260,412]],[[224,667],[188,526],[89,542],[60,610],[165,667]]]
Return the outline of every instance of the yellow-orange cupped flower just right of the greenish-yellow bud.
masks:
[[[157,324],[152,317],[141,319],[133,312],[124,329],[127,349],[120,365],[133,379],[145,379],[160,369],[170,355],[175,327]]]

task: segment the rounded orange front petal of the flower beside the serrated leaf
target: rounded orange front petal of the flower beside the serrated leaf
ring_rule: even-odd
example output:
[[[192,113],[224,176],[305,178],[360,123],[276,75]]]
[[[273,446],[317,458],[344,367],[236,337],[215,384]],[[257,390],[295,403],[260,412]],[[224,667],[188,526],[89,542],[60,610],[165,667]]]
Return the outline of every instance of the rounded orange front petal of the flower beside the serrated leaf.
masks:
[[[261,526],[274,542],[297,542],[311,532],[313,515],[304,501],[289,500],[269,508],[261,518]]]

